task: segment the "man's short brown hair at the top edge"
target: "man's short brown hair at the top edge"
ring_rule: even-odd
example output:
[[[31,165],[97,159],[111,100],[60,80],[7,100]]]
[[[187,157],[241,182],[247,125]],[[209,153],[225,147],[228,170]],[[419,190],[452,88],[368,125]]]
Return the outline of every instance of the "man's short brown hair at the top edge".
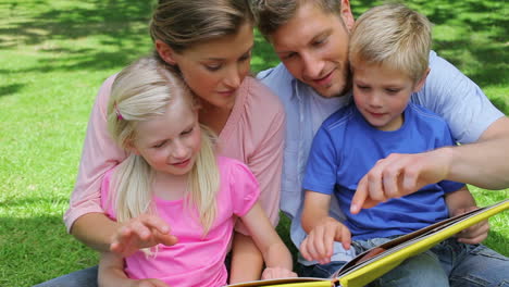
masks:
[[[252,0],[252,11],[260,33],[269,39],[281,26],[288,23],[306,2],[311,2],[325,14],[337,14],[340,17],[338,0]]]

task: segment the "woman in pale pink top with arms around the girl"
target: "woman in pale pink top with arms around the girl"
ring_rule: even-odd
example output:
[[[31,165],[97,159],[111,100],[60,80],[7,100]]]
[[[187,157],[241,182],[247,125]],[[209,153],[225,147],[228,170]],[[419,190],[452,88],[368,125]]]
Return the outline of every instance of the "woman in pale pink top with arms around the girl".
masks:
[[[278,220],[284,110],[277,98],[248,76],[253,18],[247,0],[161,0],[150,23],[156,52],[181,72],[200,100],[200,123],[219,135],[220,154],[246,163],[260,184],[260,202],[273,225]],[[107,130],[107,103],[114,75],[99,90],[85,138],[82,162],[64,221],[87,246],[131,252],[158,242],[172,245],[164,222],[139,216],[121,226],[100,207],[104,173],[127,154]],[[146,226],[150,226],[147,228]],[[258,279],[262,257],[243,226],[236,227],[229,282]],[[97,286],[88,269],[42,286]],[[85,283],[86,282],[86,283]],[[60,285],[59,285],[60,284]]]

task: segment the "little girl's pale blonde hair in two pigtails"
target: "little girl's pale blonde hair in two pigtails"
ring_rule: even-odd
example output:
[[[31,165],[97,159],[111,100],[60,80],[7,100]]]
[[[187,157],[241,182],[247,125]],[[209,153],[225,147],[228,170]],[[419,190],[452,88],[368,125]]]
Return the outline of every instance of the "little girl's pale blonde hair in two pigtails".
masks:
[[[172,67],[153,57],[141,58],[115,78],[108,103],[108,128],[115,142],[128,151],[136,139],[138,123],[163,115],[177,98],[196,108],[191,91]],[[196,207],[208,233],[216,214],[215,196],[220,175],[214,154],[215,137],[201,126],[201,147],[188,177],[188,204]],[[116,190],[116,217],[124,222],[141,213],[153,213],[151,184],[153,171],[134,153],[123,161],[112,178]]]

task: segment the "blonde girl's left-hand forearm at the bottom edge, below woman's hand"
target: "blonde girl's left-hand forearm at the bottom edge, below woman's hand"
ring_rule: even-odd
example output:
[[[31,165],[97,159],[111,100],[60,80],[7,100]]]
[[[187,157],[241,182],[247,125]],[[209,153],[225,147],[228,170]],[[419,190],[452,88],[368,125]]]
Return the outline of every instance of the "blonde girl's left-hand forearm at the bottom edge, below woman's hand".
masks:
[[[101,253],[98,285],[99,287],[170,287],[159,279],[129,279],[124,272],[124,259],[111,252]]]

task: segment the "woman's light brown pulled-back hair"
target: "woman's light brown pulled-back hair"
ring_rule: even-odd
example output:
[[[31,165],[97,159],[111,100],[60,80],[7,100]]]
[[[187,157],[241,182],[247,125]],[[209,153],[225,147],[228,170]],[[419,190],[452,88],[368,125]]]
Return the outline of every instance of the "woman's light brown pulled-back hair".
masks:
[[[195,43],[235,35],[253,17],[249,0],[160,0],[150,36],[177,52]]]

